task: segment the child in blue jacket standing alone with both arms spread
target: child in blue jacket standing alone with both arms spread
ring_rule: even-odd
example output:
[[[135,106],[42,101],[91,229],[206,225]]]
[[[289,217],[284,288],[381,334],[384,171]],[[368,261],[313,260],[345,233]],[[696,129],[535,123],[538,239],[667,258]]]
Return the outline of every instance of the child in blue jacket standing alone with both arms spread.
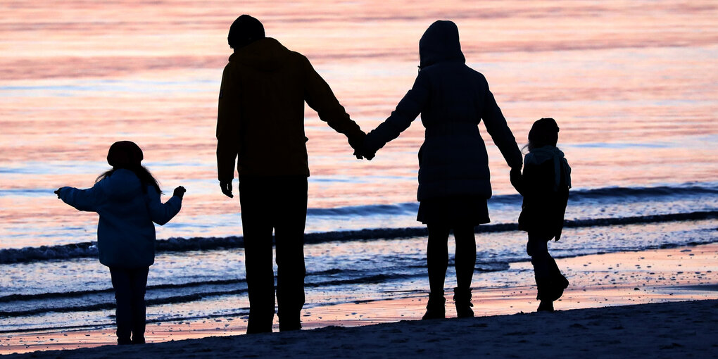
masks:
[[[144,343],[147,272],[154,263],[154,225],[169,222],[182,208],[186,190],[174,189],[160,202],[157,180],[141,165],[142,150],[131,141],[110,146],[112,169],[87,190],[60,187],[55,191],[68,205],[100,215],[97,246],[100,263],[110,268],[117,303],[117,343]]]

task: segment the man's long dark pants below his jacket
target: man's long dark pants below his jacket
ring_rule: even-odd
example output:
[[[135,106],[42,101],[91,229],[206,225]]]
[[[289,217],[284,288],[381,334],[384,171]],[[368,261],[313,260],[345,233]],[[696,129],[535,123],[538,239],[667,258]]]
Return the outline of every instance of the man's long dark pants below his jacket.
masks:
[[[279,330],[298,330],[306,273],[307,177],[241,177],[239,200],[250,307],[247,332],[271,332],[274,320],[272,229]]]

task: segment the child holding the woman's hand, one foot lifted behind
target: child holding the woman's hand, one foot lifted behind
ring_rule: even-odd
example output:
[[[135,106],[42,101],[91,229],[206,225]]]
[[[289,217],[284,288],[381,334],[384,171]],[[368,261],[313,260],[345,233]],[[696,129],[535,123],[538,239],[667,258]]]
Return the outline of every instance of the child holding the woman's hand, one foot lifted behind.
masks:
[[[569,281],[549,254],[548,242],[558,241],[571,188],[571,167],[556,147],[559,126],[553,118],[541,118],[528,132],[528,154],[523,174],[510,172],[511,185],[523,196],[518,229],[528,232],[526,252],[531,256],[538,287],[538,312],[553,312],[554,301],[564,294]]]

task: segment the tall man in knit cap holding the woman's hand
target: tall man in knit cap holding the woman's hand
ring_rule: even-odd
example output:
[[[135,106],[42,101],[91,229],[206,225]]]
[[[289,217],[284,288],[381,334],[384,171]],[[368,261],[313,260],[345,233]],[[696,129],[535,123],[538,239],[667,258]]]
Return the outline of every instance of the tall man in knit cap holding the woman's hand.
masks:
[[[322,121],[345,134],[355,150],[365,134],[307,57],[265,37],[259,20],[238,17],[227,40],[234,53],[222,74],[217,167],[222,192],[233,197],[237,163],[250,305],[247,332],[271,332],[273,229],[279,330],[299,330],[309,177],[304,101]]]

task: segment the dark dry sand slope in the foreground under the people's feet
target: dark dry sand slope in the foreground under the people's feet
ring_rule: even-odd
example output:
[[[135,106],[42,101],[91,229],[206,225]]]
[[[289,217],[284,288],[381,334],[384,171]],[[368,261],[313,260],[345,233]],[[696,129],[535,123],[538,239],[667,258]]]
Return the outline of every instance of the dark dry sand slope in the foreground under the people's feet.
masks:
[[[718,301],[103,346],[10,358],[714,358]]]

